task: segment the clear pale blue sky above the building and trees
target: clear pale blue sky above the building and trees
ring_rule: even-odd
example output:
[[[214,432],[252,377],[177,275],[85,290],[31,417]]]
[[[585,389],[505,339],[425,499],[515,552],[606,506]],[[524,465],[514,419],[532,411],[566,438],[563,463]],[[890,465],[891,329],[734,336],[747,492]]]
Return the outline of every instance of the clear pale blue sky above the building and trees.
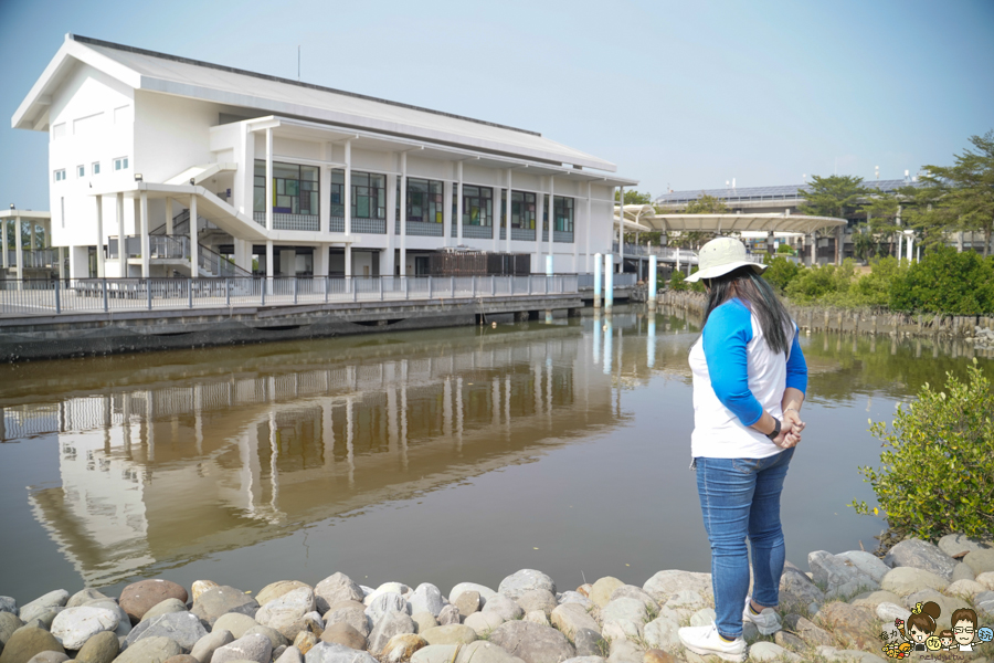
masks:
[[[47,209],[10,117],[67,32],[537,131],[639,189],[899,178],[994,128],[994,2],[0,0],[0,203]]]

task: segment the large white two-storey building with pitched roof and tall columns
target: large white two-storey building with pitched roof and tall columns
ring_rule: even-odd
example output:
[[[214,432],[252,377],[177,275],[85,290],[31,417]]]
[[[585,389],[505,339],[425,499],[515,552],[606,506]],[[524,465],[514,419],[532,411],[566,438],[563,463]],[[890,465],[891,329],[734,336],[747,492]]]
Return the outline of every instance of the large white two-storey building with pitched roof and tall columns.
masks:
[[[533,131],[72,34],[12,126],[49,133],[72,277],[410,275],[455,246],[590,272],[637,183]]]

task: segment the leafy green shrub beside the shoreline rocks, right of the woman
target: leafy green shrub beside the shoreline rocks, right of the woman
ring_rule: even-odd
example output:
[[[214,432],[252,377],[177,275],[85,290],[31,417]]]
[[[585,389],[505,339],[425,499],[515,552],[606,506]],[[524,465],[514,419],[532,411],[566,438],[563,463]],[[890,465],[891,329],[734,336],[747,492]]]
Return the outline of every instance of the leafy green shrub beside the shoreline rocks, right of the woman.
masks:
[[[918,400],[898,407],[892,430],[870,421],[888,448],[881,466],[859,467],[898,536],[934,540],[959,532],[994,537],[994,393],[976,359],[962,382],[947,373],[945,390],[926,383]],[[870,509],[853,501],[857,513]]]

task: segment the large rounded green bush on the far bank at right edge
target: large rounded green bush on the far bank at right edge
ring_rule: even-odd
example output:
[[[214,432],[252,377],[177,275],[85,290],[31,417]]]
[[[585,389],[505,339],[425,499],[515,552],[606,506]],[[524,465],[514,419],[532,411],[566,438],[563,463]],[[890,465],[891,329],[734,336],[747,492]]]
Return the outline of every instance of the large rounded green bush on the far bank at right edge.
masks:
[[[903,312],[994,313],[994,259],[941,248],[911,265],[890,288],[890,307]]]

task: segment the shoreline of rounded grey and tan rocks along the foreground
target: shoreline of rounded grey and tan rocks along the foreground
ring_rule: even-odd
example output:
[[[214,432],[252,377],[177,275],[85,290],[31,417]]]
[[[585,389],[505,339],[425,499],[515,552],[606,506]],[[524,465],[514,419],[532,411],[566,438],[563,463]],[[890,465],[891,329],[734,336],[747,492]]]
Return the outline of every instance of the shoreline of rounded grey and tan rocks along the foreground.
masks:
[[[939,629],[958,608],[994,625],[994,541],[906,539],[882,559],[816,550],[808,565],[784,569],[783,630],[762,636],[747,624],[750,660],[885,661],[895,619],[924,601],[941,607]],[[686,651],[677,632],[713,618],[710,573],[679,570],[641,587],[606,577],[558,591],[524,569],[496,590],[461,582],[447,596],[430,583],[363,587],[341,572],[256,593],[150,579],[118,597],[57,589],[18,607],[0,596],[0,663],[699,663],[711,657]],[[994,644],[926,654],[987,661]]]

